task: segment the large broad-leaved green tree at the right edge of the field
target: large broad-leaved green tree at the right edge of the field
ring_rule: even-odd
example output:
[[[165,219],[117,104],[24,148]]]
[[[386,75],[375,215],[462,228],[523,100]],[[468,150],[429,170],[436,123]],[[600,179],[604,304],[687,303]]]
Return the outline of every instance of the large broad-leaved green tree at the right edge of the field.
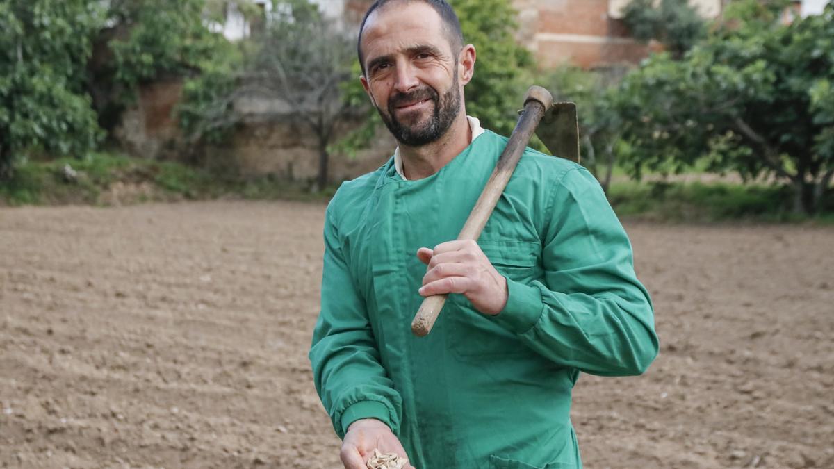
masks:
[[[616,105],[634,174],[706,155],[711,171],[790,182],[793,209],[816,211],[834,175],[834,5],[789,25],[781,8],[731,3],[681,61],[658,54],[625,78]]]

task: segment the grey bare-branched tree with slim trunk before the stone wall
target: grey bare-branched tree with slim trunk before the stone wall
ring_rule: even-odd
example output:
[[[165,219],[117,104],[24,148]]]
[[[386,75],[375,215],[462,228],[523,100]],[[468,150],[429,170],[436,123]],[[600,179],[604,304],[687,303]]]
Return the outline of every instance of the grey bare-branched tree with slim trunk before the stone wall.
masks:
[[[304,124],[317,141],[320,190],[329,180],[336,125],[354,108],[341,96],[354,61],[353,39],[308,0],[275,0],[268,14],[263,30],[240,48],[244,58],[234,72],[203,74],[193,97],[186,90],[181,124],[191,144],[217,143],[236,124]],[[244,101],[280,105],[247,110]]]

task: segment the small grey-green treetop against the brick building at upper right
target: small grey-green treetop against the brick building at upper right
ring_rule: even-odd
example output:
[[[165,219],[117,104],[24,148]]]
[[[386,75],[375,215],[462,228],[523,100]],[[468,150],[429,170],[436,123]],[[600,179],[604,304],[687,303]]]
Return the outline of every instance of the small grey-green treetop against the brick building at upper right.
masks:
[[[706,36],[706,23],[686,0],[634,0],[625,7],[623,20],[638,41],[660,42],[675,58],[683,57]]]

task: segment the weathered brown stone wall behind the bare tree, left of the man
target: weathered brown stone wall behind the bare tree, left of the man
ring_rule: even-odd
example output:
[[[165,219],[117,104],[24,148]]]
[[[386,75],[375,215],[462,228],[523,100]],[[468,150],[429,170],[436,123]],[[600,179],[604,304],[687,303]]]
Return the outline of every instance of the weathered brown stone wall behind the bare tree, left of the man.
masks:
[[[274,175],[294,181],[312,180],[318,174],[318,144],[314,134],[289,116],[284,103],[264,100],[242,101],[246,113],[287,113],[269,124],[241,124],[229,144],[186,148],[174,111],[182,97],[182,82],[162,81],[140,88],[133,108],[122,115],[114,136],[129,154],[140,158],[189,159],[213,169],[243,177]],[[345,119],[337,135],[347,135],[359,126],[359,119]],[[354,156],[333,154],[329,174],[334,181],[354,179],[379,168],[394,151],[396,142],[380,131],[369,149]]]

